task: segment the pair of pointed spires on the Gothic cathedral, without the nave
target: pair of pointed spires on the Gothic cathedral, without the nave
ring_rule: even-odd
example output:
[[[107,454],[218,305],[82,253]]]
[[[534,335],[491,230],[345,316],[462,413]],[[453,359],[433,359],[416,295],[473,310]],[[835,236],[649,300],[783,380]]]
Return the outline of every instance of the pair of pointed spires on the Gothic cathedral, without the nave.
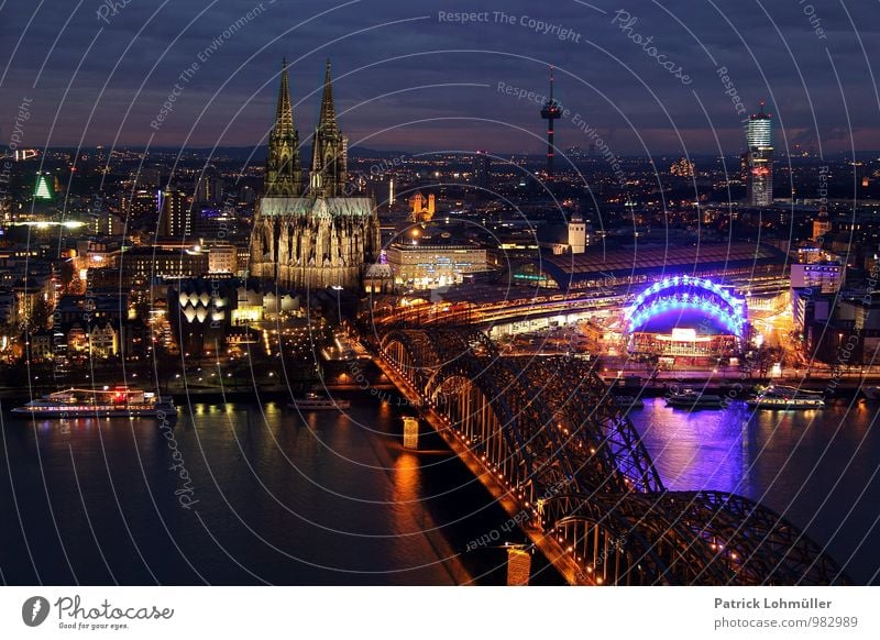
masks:
[[[336,198],[345,195],[348,139],[337,123],[330,60],[327,60],[318,126],[312,137],[309,196]],[[275,126],[268,137],[265,177],[266,196],[302,196],[299,166],[299,132],[294,124],[287,62],[282,63],[282,86],[275,113]]]

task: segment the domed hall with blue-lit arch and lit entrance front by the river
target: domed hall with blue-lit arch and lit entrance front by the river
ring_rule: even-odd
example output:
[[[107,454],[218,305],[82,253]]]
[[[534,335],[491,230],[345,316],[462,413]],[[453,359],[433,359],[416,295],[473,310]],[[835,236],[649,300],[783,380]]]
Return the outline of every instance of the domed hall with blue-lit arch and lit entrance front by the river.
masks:
[[[747,336],[746,300],[704,278],[652,284],[624,312],[631,353],[718,356]]]

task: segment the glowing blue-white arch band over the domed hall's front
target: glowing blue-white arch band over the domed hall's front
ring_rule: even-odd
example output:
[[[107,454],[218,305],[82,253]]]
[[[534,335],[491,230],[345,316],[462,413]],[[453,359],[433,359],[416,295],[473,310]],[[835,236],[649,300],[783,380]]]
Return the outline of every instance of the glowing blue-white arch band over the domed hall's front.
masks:
[[[706,278],[663,278],[641,291],[626,310],[628,332],[637,331],[661,313],[675,310],[701,311],[737,338],[746,329],[746,301]]]

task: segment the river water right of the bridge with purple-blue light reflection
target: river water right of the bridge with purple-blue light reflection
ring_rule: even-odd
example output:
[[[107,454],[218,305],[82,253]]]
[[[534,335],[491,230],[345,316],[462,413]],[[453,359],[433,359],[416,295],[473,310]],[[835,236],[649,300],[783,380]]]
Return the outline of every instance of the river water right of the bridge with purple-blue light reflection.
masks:
[[[760,501],[801,528],[858,583],[880,582],[880,431],[876,404],[823,410],[686,411],[646,398],[630,412],[673,490],[716,489]]]

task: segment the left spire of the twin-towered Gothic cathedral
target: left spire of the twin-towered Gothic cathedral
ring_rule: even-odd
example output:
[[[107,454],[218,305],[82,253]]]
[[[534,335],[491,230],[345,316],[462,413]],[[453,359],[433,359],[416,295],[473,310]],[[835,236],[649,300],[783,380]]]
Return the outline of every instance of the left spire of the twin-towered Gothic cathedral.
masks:
[[[299,168],[299,132],[294,124],[294,108],[290,106],[286,59],[282,62],[282,87],[278,91],[278,107],[275,110],[275,125],[268,135],[264,194],[293,197],[302,194],[302,172]]]

